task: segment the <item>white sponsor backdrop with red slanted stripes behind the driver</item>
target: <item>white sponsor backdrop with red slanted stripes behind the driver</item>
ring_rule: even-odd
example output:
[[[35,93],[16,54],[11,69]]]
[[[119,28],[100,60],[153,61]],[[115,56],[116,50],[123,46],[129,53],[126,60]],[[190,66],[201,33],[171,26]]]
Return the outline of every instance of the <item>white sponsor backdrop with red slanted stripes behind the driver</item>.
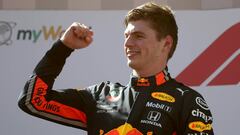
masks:
[[[17,107],[17,99],[37,62],[73,21],[91,26],[94,42],[74,51],[54,88],[105,80],[127,84],[131,70],[123,51],[126,12],[0,11],[0,134],[86,134],[25,114]],[[179,44],[168,64],[172,76],[205,97],[215,134],[238,133],[240,9],[176,11],[176,19]]]

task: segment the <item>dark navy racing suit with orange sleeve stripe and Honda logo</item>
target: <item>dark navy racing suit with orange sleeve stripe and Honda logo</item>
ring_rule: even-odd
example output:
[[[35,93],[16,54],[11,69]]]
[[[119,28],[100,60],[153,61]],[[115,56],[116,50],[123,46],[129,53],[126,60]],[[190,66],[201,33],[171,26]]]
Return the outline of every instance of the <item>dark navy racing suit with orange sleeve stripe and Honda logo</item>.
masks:
[[[18,102],[23,111],[89,135],[213,135],[203,97],[172,79],[167,68],[150,77],[132,75],[127,86],[107,81],[53,90],[72,51],[54,43],[25,84]]]

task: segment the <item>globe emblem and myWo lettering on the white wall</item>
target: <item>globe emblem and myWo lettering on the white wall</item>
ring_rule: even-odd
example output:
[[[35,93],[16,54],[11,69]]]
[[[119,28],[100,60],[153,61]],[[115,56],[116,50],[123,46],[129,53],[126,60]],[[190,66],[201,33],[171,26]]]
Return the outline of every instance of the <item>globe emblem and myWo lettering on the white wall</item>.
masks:
[[[16,29],[17,23],[0,21],[0,45],[11,45],[12,40],[31,41],[36,43],[40,37],[44,40],[56,40],[65,31],[61,25],[45,26],[43,25],[39,29],[19,28]],[[16,39],[12,39],[16,34]]]

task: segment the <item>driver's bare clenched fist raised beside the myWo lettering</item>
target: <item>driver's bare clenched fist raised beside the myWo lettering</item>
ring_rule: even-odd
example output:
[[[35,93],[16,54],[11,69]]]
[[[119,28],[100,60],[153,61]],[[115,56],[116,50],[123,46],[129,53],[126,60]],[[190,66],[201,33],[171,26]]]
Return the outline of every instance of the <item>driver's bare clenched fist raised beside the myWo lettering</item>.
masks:
[[[81,49],[93,41],[93,31],[84,24],[74,22],[62,35],[60,40],[71,49]]]

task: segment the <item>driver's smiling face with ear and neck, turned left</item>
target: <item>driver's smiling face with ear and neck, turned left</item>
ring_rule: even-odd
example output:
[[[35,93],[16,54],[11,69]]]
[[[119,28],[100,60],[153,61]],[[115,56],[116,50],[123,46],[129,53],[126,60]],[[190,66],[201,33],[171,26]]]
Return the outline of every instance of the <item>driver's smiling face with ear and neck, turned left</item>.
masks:
[[[154,75],[166,66],[172,43],[170,36],[158,40],[156,32],[143,20],[129,22],[124,34],[128,65],[138,75]]]

